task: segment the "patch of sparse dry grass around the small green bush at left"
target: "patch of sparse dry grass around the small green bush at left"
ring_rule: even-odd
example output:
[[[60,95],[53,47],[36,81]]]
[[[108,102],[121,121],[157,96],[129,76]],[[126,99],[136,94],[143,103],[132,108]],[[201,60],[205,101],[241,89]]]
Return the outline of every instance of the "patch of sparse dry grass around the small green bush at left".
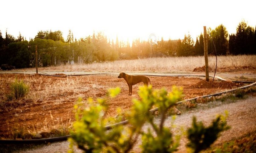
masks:
[[[11,77],[8,77],[7,75],[4,78],[0,78],[0,110],[8,109],[6,108],[4,101],[7,101],[6,95],[10,92],[9,85],[13,82],[14,78],[14,75]],[[88,77],[86,76],[84,79],[89,82],[91,81],[88,80]],[[90,85],[87,85],[84,83],[85,80],[82,80],[82,78],[79,77],[73,77],[73,79],[69,79],[69,77],[62,79],[48,79],[46,76],[32,77],[24,75],[22,80],[30,88],[30,91],[24,99],[29,99],[29,101],[32,101],[33,103],[54,100],[54,103],[57,105],[69,100],[74,101],[74,99],[80,97],[81,94],[84,95],[84,93],[87,93],[91,88],[101,88],[96,82],[91,82]],[[97,92],[95,92],[95,94],[97,94]],[[12,105],[19,105],[20,101],[22,101],[22,99],[14,99],[11,100],[10,103],[12,103]]]

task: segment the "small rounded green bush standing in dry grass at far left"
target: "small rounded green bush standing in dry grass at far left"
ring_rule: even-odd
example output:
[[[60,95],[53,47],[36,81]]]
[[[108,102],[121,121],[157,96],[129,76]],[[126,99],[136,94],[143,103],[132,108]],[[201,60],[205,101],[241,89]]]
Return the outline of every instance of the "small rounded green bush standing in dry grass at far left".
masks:
[[[23,80],[18,81],[17,77],[15,78],[14,82],[10,84],[11,92],[7,95],[9,100],[11,99],[18,99],[24,97],[28,91],[29,86],[23,82]]]

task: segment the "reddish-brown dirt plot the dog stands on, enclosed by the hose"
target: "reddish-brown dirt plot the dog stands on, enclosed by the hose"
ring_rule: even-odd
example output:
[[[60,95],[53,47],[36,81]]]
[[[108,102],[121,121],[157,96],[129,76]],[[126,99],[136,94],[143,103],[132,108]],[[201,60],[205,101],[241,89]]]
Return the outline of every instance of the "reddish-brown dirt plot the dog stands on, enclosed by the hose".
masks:
[[[30,96],[23,99],[8,101],[5,94],[9,91],[8,80],[13,80],[17,76],[30,85]],[[78,97],[86,99],[92,97],[107,97],[107,89],[120,87],[121,93],[115,98],[108,99],[109,109],[107,115],[117,115],[116,109],[123,111],[132,106],[132,99],[138,96],[139,83],[133,85],[133,95],[128,95],[128,85],[123,78],[118,75],[87,75],[87,76],[44,76],[44,75],[25,75],[25,74],[0,74],[1,105],[0,105],[0,138],[10,139],[18,129],[24,129],[24,133],[50,132],[59,127],[70,128],[74,117],[74,104]],[[215,79],[213,83],[205,81],[199,77],[172,77],[172,76],[148,76],[153,89],[165,87],[171,91],[173,85],[183,87],[184,99],[197,96],[212,94],[228,89],[244,86],[244,83],[234,83],[230,81],[220,81]],[[39,80],[39,81],[38,81]],[[68,82],[78,82],[71,86]],[[63,85],[64,83],[64,85]],[[65,86],[66,83],[66,86]],[[57,86],[62,84],[63,89]],[[50,90],[50,89],[52,90]],[[74,90],[73,90],[74,89]],[[48,91],[50,90],[50,91]],[[61,90],[61,91],[60,91]],[[42,96],[45,92],[51,92]],[[36,94],[37,93],[37,94]],[[33,97],[32,95],[41,95]],[[16,134],[17,135],[17,134]],[[17,137],[17,136],[16,136]],[[31,137],[27,137],[31,139]]]

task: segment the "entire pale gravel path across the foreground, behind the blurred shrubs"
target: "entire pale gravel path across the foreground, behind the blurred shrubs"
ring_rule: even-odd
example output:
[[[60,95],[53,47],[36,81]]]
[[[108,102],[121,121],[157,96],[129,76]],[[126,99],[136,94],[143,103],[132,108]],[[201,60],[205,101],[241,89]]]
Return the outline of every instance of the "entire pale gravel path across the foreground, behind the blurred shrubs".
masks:
[[[173,131],[178,131],[180,127],[185,129],[191,126],[192,117],[196,116],[197,121],[203,121],[204,125],[211,124],[217,114],[224,114],[228,110],[229,117],[227,124],[231,129],[221,133],[215,144],[236,139],[246,133],[256,130],[256,96],[249,96],[246,99],[237,100],[233,103],[221,104],[214,108],[198,109],[189,111],[176,117],[174,124],[177,125]],[[156,123],[159,118],[155,119]],[[171,116],[167,118],[165,126],[171,126]],[[146,128],[146,127],[145,127]],[[187,140],[183,137],[180,141],[178,152],[186,152],[185,144]],[[69,150],[69,142],[56,142],[48,145],[39,145],[33,149],[19,150],[17,152],[24,153],[46,153],[46,152],[67,152]],[[140,152],[139,143],[134,147],[133,151]],[[75,152],[81,152],[76,149]]]

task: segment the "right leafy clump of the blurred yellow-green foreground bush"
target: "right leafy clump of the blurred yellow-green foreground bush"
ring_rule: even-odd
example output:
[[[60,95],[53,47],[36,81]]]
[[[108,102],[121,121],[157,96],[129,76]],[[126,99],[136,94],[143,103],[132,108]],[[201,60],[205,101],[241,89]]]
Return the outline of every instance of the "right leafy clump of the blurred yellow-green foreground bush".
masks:
[[[141,115],[141,121],[137,120],[138,116],[135,118],[137,123],[147,121],[151,128],[148,128],[146,132],[141,131],[142,135],[142,152],[173,152],[177,149],[179,145],[179,136],[176,137],[176,141],[173,140],[170,128],[164,127],[164,121],[166,119],[166,113],[168,110],[176,105],[176,102],[181,100],[182,88],[172,87],[172,92],[167,92],[165,88],[160,90],[152,91],[151,87],[148,89],[142,88],[139,91],[141,101],[137,101],[135,106],[140,106],[141,109],[136,109],[137,115]],[[149,112],[152,106],[158,107],[160,113],[160,124],[154,123],[153,116]],[[147,110],[143,110],[148,107]],[[143,113],[144,112],[144,113]],[[143,121],[143,119],[145,121]],[[142,125],[141,125],[142,126]],[[153,129],[153,130],[151,130]]]

